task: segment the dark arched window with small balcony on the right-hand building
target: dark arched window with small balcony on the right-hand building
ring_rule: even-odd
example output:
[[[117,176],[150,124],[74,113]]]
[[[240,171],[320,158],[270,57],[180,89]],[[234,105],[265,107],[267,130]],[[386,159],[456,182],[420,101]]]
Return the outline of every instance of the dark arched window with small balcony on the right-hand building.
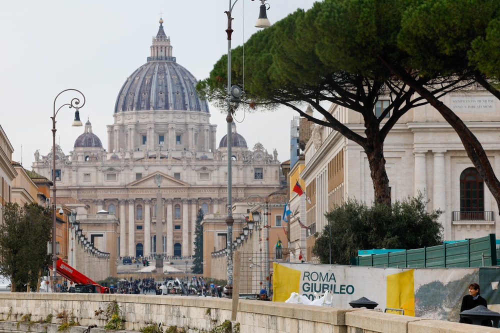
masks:
[[[468,167],[460,174],[461,219],[481,218],[483,212],[484,181],[475,168]]]

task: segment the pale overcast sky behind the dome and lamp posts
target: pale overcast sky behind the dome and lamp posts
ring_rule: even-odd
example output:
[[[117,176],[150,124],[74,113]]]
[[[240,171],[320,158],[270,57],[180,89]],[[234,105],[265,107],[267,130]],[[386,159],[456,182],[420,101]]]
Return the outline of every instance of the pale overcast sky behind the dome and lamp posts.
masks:
[[[271,24],[297,8],[309,9],[313,0],[267,0]],[[260,1],[234,0],[232,48],[243,44],[254,27]],[[12,160],[31,170],[34,152],[47,155],[52,147],[54,98],[68,88],[85,96],[83,123],[107,149],[106,125],[113,123],[119,89],[150,55],[151,40],[163,19],[173,56],[198,80],[208,77],[213,64],[227,54],[229,0],[24,0],[0,2],[0,125],[14,148]],[[56,109],[74,95],[63,94]],[[226,111],[210,106],[210,123],[217,125],[217,146],[227,134]],[[222,112],[221,112],[222,111]],[[249,149],[256,142],[278,159],[290,158],[290,120],[298,113],[288,108],[249,113],[239,107],[236,130]],[[84,127],[71,127],[74,109],[56,116],[56,142],[65,154]]]

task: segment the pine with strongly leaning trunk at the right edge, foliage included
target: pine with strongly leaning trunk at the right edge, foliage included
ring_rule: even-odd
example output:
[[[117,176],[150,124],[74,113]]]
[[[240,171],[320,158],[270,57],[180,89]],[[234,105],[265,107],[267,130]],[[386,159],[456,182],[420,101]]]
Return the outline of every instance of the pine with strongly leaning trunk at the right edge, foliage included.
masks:
[[[379,55],[399,79],[424,97],[453,127],[475,168],[500,208],[500,181],[481,143],[464,122],[431,89],[421,84],[459,79],[478,83],[497,98],[500,62],[500,2],[495,0],[413,0],[402,13],[396,45],[402,57]],[[497,68],[497,67],[496,67]]]

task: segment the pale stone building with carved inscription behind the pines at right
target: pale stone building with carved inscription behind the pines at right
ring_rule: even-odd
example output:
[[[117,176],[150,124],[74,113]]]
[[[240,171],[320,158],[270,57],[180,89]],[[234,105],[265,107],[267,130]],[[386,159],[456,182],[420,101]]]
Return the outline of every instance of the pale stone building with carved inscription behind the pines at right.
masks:
[[[388,98],[381,97],[374,112],[381,114],[386,101]],[[442,101],[476,135],[494,172],[500,175],[500,103],[480,87],[448,93]],[[363,135],[358,113],[336,104],[329,112]],[[290,207],[300,211],[305,216],[302,221],[310,227],[306,257],[312,261],[314,233],[322,231],[327,223],[324,213],[347,197],[371,204],[374,191],[367,157],[359,145],[316,124],[312,124],[305,139],[305,164],[298,178],[304,181],[310,202],[305,195],[296,198],[296,193],[291,192]],[[428,210],[444,211],[439,217],[444,240],[500,234],[496,201],[456,132],[432,106],[421,105],[405,113],[387,135],[383,150],[392,202],[416,196],[419,191],[424,193],[429,200]],[[296,179],[297,175],[291,176]],[[293,223],[292,217],[290,225]]]

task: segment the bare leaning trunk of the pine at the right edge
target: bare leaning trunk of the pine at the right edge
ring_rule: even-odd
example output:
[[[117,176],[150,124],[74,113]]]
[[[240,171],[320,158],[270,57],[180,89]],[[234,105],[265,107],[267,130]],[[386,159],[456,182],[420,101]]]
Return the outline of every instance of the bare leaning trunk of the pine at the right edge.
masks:
[[[434,96],[427,88],[422,86],[414,77],[396,66],[392,66],[386,62],[384,63],[395,75],[400,77],[402,81],[412,87],[416,93],[425,98],[455,130],[463,144],[463,147],[465,148],[465,151],[467,152],[467,156],[470,158],[472,164],[474,164],[474,167],[486,183],[491,195],[493,195],[496,200],[498,213],[500,214],[500,181],[498,181],[498,178],[491,167],[488,156],[486,156],[486,152],[484,151],[484,148],[479,140],[477,140],[477,137],[463,123],[462,119],[460,119],[443,102],[437,99],[437,97]]]

